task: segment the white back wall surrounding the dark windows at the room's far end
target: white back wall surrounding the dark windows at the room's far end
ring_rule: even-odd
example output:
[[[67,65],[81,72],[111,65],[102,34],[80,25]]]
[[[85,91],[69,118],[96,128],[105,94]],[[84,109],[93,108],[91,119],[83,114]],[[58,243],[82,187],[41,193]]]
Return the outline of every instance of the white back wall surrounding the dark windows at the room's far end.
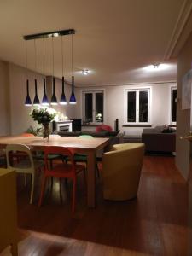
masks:
[[[105,105],[104,105],[104,123],[114,127],[114,120],[119,119],[119,129],[121,131],[143,131],[143,127],[123,127],[125,112],[125,89],[144,88],[150,86],[152,92],[151,99],[151,125],[165,125],[171,122],[171,86],[177,86],[176,83],[162,84],[137,84],[137,85],[117,85],[102,86],[95,89],[104,89]],[[90,88],[77,89],[77,97],[80,101],[80,108],[77,109],[77,118],[81,118],[82,114],[82,90],[90,90]]]

